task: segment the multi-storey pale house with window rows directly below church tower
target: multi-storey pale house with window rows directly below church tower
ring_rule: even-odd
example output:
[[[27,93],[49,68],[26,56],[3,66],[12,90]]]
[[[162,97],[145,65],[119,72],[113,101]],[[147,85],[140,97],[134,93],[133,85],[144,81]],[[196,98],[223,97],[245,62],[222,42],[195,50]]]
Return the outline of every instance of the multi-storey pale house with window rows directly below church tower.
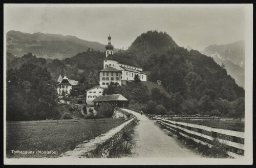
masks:
[[[117,82],[121,85],[121,74],[120,70],[113,67],[107,67],[99,71],[99,85],[103,88],[108,87],[110,82]]]

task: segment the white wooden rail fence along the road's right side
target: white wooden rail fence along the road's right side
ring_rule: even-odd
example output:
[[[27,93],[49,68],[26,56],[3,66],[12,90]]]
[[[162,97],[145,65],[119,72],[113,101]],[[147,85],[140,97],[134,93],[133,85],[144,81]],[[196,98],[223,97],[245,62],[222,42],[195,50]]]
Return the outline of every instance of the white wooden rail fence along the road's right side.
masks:
[[[209,148],[213,146],[212,141],[216,139],[227,146],[227,155],[233,158],[244,157],[244,132],[216,129],[163,118],[157,118],[157,122],[168,130],[178,132],[180,135],[197,143],[208,145]]]

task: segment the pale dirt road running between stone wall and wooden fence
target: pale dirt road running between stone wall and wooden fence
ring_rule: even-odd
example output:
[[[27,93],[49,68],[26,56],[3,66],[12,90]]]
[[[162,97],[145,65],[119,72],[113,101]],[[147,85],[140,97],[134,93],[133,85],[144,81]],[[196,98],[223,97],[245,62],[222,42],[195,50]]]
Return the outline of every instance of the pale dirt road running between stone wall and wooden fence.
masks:
[[[148,119],[132,110],[123,109],[134,114],[139,120],[135,127],[133,158],[203,158],[203,156],[186,149],[186,146],[168,136],[154,120]]]

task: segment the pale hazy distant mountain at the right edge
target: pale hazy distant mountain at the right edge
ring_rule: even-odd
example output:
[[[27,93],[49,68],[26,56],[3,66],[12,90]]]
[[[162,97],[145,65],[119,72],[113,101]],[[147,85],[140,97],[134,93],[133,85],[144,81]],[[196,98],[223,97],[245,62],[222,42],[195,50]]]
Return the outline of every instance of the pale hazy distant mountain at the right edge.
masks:
[[[228,45],[210,45],[201,53],[214,58],[219,65],[224,63],[227,73],[236,80],[238,85],[244,87],[244,41]]]

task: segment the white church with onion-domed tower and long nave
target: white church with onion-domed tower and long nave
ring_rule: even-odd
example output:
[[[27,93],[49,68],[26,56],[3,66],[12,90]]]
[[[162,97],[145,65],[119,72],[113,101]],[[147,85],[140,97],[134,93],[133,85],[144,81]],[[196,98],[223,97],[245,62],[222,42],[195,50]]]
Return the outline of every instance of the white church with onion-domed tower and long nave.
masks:
[[[122,72],[121,80],[134,80],[136,74],[139,75],[141,81],[146,81],[146,73],[142,68],[130,59],[120,57],[114,54],[114,46],[111,45],[111,37],[108,37],[109,43],[106,45],[106,58],[103,62],[103,68],[112,67]]]

